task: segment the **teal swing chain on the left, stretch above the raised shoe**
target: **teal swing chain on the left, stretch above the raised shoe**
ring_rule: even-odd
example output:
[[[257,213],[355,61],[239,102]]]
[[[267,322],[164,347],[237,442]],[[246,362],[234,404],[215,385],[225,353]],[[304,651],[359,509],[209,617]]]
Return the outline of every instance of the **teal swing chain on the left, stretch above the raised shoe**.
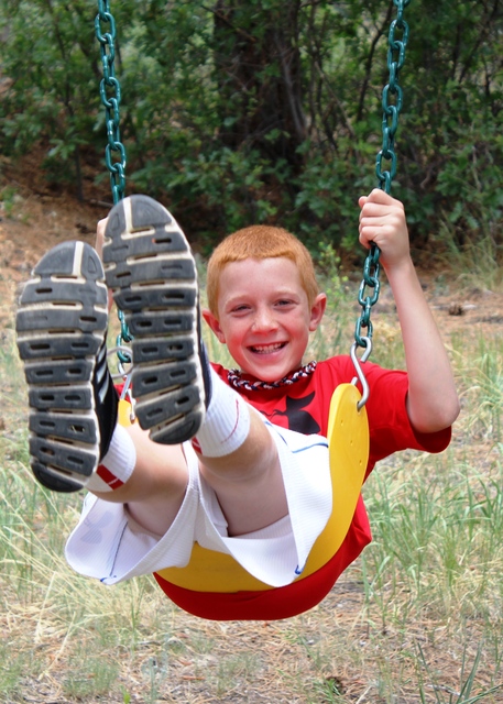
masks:
[[[109,31],[103,32],[102,26],[108,25]],[[124,196],[125,188],[125,148],[120,140],[120,101],[121,89],[116,78],[113,62],[116,59],[116,21],[110,12],[108,0],[98,0],[98,14],[95,20],[96,37],[100,45],[103,77],[99,91],[101,102],[105,106],[108,144],[105,150],[105,161],[110,172],[110,186],[113,204],[119,202]],[[112,153],[118,153],[118,158],[112,161]]]

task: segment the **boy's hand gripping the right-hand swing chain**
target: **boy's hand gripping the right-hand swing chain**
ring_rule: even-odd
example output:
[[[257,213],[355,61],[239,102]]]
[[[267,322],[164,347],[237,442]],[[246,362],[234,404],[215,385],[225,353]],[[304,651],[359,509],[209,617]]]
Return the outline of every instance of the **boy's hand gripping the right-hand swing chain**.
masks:
[[[374,242],[381,250],[380,261],[386,271],[409,258],[408,230],[402,202],[381,188],[358,200],[360,242],[370,249]]]

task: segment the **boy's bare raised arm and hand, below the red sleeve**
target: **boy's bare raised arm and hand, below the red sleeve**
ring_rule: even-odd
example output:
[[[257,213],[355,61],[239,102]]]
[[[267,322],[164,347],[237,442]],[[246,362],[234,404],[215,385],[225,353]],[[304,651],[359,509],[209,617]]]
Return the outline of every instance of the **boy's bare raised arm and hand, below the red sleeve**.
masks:
[[[407,413],[418,432],[452,425],[459,399],[449,358],[411,258],[403,205],[381,189],[359,199],[360,242],[381,250],[396,304],[408,373]]]

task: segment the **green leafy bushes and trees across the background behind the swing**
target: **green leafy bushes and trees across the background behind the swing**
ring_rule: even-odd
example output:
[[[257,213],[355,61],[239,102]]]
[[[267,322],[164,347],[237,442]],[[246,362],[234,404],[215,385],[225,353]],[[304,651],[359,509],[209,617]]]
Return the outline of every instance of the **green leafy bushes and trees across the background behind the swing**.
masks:
[[[171,204],[204,249],[251,222],[281,222],[314,251],[358,248],[357,199],[376,183],[393,3],[110,4],[130,190]],[[2,153],[42,146],[46,177],[80,194],[85,164],[108,183],[97,166],[96,12],[84,0],[0,0]],[[404,16],[393,194],[413,244],[462,252],[489,239],[500,261],[503,9],[426,0]]]

